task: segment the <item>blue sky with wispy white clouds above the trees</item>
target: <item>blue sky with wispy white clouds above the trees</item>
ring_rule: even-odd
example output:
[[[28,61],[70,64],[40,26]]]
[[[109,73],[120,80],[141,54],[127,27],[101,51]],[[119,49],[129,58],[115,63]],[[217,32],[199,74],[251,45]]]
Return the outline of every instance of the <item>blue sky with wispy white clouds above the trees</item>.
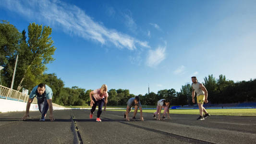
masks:
[[[0,19],[52,28],[47,73],[67,87],[144,95],[194,75],[256,78],[255,0],[0,0]]]

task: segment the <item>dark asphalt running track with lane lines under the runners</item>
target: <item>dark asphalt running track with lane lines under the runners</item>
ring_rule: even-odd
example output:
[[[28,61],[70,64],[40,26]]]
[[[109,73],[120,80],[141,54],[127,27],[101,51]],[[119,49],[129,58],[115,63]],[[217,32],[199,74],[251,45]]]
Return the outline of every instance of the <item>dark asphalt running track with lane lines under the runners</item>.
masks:
[[[97,110],[96,110],[97,112]],[[130,114],[130,117],[133,113]],[[20,120],[24,112],[0,113],[0,143],[30,144],[256,144],[256,117],[172,114],[171,120],[154,120],[144,113],[144,121],[123,119],[123,112],[102,112],[101,120],[89,119],[89,110],[55,110],[56,121]],[[139,118],[139,113],[137,113]]]

